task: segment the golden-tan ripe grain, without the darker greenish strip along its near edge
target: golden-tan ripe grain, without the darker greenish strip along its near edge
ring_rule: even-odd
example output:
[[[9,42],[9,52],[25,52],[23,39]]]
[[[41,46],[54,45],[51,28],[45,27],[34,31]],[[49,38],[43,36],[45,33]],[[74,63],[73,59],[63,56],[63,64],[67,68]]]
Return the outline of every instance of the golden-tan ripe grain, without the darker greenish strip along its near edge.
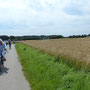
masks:
[[[90,63],[90,38],[26,40],[23,43],[57,56],[66,55]]]

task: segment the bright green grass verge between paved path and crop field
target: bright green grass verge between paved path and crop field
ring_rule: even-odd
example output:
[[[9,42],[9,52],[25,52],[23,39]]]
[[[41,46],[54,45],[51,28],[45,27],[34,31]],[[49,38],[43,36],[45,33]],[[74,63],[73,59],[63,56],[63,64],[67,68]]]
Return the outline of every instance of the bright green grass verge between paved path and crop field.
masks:
[[[20,43],[16,50],[32,90],[90,90],[90,72]]]

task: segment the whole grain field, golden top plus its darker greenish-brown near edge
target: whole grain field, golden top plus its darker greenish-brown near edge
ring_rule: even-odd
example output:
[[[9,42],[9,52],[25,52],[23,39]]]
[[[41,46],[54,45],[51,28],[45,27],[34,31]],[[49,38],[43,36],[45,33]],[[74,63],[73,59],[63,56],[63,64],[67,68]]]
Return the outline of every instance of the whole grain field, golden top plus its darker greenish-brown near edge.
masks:
[[[90,38],[27,40],[22,43],[44,53],[60,57],[62,62],[69,66],[75,66],[76,69],[90,71]]]

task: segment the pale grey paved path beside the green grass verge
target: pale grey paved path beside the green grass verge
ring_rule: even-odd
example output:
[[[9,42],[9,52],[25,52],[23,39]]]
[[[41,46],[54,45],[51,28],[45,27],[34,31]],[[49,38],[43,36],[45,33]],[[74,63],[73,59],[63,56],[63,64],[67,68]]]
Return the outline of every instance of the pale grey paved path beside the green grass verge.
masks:
[[[11,50],[8,50],[6,58],[5,68],[0,73],[0,90],[30,90],[14,45],[12,45]]]

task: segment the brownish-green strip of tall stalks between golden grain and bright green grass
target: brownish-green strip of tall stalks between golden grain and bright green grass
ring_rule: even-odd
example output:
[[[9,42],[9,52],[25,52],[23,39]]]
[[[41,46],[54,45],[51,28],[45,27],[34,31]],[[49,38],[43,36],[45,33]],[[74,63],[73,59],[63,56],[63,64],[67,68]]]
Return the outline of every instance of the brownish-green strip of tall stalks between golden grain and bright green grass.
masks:
[[[20,42],[22,43],[22,42]],[[24,45],[30,46],[27,43],[22,43]],[[74,57],[71,57],[69,55],[65,55],[65,54],[53,54],[50,52],[47,52],[47,50],[44,49],[40,49],[40,48],[36,48],[35,46],[30,46],[31,48],[36,49],[39,52],[47,53],[50,56],[53,56],[56,58],[56,62],[62,62],[62,63],[66,63],[69,67],[74,67],[76,70],[81,70],[83,69],[86,72],[90,72],[90,63],[86,62],[86,61],[82,61],[82,60],[78,60]]]

